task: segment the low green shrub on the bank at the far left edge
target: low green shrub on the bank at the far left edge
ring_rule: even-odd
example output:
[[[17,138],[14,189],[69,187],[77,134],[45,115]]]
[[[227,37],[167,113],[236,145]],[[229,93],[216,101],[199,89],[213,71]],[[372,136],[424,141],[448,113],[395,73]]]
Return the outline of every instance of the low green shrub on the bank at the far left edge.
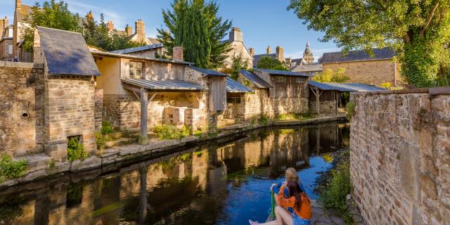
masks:
[[[27,160],[13,161],[7,154],[1,155],[0,159],[0,181],[4,178],[14,179],[25,175],[27,170]]]

